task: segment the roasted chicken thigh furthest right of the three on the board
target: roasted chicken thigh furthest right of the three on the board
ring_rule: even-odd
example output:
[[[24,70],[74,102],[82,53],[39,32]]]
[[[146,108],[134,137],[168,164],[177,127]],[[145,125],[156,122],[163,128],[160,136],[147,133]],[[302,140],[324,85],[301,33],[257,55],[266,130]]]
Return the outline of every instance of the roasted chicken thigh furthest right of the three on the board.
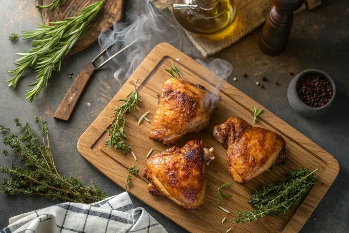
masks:
[[[228,149],[230,176],[245,184],[273,164],[285,163],[285,140],[277,133],[253,127],[239,117],[216,125],[213,136]]]

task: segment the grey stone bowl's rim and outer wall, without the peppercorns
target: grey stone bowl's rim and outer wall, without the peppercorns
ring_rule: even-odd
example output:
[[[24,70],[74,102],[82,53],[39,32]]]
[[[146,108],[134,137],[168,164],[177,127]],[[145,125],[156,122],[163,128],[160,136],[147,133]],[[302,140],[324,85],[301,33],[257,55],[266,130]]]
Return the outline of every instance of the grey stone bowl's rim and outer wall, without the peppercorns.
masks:
[[[319,76],[327,79],[327,81],[330,83],[333,89],[332,99],[324,106],[310,107],[309,105],[303,103],[303,101],[298,96],[297,83],[299,79],[306,74],[318,74]],[[336,95],[336,86],[333,79],[324,71],[317,70],[317,69],[309,69],[309,70],[300,72],[291,80],[287,89],[287,98],[288,98],[288,101],[290,102],[291,107],[304,117],[317,117],[324,114],[332,106],[332,102],[334,100],[335,95]]]

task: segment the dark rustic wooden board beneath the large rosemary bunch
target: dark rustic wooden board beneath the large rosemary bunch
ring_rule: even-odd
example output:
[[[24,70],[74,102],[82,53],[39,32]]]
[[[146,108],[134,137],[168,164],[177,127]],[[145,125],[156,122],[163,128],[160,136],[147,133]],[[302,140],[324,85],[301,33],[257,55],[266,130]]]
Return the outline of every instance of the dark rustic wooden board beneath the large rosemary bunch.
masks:
[[[35,0],[35,5],[46,6],[54,0]],[[38,9],[41,12],[43,24],[49,22],[62,21],[67,17],[73,17],[82,8],[101,0],[65,0],[53,13],[48,8]],[[83,38],[80,38],[67,56],[71,56],[93,45],[99,34],[113,26],[114,22],[122,20],[124,14],[124,0],[104,0],[104,5],[99,14],[90,23],[89,29]]]

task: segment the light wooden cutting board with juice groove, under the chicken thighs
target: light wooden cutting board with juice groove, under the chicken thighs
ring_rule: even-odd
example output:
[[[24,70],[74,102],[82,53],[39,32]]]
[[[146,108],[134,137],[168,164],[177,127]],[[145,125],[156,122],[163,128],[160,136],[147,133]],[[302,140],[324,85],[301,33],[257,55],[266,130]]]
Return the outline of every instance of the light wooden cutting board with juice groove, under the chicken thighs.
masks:
[[[175,60],[179,58],[180,61]],[[214,147],[215,160],[206,167],[206,194],[203,207],[198,211],[186,211],[177,207],[166,197],[155,197],[147,192],[148,182],[142,177],[145,168],[146,155],[154,148],[153,155],[162,152],[167,147],[160,141],[149,139],[151,123],[143,121],[140,126],[133,116],[126,116],[126,143],[132,145],[132,151],[138,160],[134,160],[131,152],[122,155],[119,151],[111,147],[104,148],[103,142],[108,135],[105,129],[110,127],[113,110],[121,105],[119,99],[124,99],[132,92],[134,83],[139,79],[137,87],[143,100],[142,108],[137,109],[135,114],[140,117],[144,112],[150,110],[147,118],[153,122],[153,117],[157,109],[158,97],[161,86],[169,78],[164,70],[172,63],[179,66],[183,72],[183,79],[192,83],[204,85],[207,89],[215,91],[215,85],[220,84],[221,90],[218,92],[222,96],[222,102],[213,111],[210,123],[206,129],[198,134],[188,134],[175,145],[182,147],[191,139],[201,139],[207,147]],[[253,124],[252,106],[263,108],[256,125],[273,130],[287,142],[287,159],[285,165],[276,166],[274,170],[265,172],[256,179],[245,185],[233,182],[229,176],[226,154],[227,150],[213,138],[213,127],[224,123],[231,116],[238,116]],[[231,232],[298,232],[305,221],[309,218],[321,198],[325,195],[339,172],[339,165],[336,159],[313,141],[282,121],[256,101],[240,92],[228,82],[221,80],[212,74],[205,67],[178,51],[169,44],[157,45],[153,51],[143,60],[141,65],[128,79],[125,85],[119,90],[116,96],[110,101],[102,113],[89,126],[80,137],[77,148],[81,155],[89,161],[96,169],[118,184],[121,188],[126,188],[128,168],[136,165],[140,170],[139,175],[133,175],[132,186],[129,193],[139,198],[144,203],[164,214],[166,217],[184,227],[189,232],[226,232],[232,228]],[[251,197],[248,192],[258,189],[258,185],[268,185],[271,182],[281,179],[286,172],[300,167],[309,169],[319,168],[320,179],[313,189],[306,196],[303,203],[295,209],[288,210],[282,217],[263,217],[257,222],[250,224],[234,225],[233,218],[235,212],[250,210],[251,206],[246,201]],[[224,198],[221,205],[230,210],[230,214],[225,213],[217,206],[218,187],[226,182],[233,182],[232,185],[224,189],[224,193],[233,195],[232,198]],[[221,223],[224,217],[227,220]]]

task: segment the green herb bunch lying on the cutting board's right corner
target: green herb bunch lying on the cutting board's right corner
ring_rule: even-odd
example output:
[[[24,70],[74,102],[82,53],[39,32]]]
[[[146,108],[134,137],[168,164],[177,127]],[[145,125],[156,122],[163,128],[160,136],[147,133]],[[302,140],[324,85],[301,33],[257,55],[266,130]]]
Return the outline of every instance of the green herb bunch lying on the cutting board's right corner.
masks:
[[[282,217],[289,208],[295,207],[304,194],[310,191],[319,179],[315,170],[300,168],[286,174],[286,180],[270,184],[256,193],[247,203],[255,209],[251,211],[236,211],[234,223],[250,223],[263,216]]]

